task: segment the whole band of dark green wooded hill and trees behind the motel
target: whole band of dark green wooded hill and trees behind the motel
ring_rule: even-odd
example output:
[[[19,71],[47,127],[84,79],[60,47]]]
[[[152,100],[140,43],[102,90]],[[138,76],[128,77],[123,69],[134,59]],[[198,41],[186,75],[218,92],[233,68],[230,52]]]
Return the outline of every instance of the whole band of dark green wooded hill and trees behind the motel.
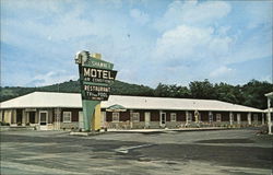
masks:
[[[213,84],[207,80],[190,82],[189,86],[159,83],[155,89],[115,81],[111,88],[112,95],[219,100],[260,109],[266,108],[266,97],[264,94],[273,92],[273,84],[257,80],[251,80],[244,85],[230,85],[227,83]],[[34,91],[78,93],[80,92],[80,83],[79,81],[70,80],[68,82],[39,88],[5,86],[1,88],[1,102]]]

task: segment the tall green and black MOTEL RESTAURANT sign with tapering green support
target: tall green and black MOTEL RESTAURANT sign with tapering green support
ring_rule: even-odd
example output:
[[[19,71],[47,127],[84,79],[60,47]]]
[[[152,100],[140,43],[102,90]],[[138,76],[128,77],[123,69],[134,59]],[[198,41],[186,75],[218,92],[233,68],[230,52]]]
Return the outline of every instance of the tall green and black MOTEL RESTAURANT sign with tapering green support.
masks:
[[[112,63],[102,60],[100,55],[88,51],[78,52],[75,63],[79,65],[84,131],[90,131],[95,108],[100,101],[108,100],[117,71],[112,70]]]

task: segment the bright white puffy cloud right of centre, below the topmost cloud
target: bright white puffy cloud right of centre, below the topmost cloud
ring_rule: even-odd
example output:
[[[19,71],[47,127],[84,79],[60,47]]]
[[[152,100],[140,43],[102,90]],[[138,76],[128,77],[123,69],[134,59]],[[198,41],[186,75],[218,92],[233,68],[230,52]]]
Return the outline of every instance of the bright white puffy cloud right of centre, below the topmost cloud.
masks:
[[[233,38],[214,34],[212,27],[180,25],[167,31],[156,42],[155,58],[202,60],[216,59],[229,51]]]

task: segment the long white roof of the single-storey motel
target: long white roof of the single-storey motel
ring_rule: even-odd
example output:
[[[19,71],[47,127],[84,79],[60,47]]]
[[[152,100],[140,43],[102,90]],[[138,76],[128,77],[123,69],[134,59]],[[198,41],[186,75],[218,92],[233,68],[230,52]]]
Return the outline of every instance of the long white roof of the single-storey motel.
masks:
[[[215,101],[193,98],[147,97],[110,95],[108,101],[103,101],[102,108],[111,105],[121,105],[128,109],[159,109],[159,110],[221,110],[221,112],[252,112],[263,110]],[[82,108],[80,93],[33,92],[0,103],[0,108]]]

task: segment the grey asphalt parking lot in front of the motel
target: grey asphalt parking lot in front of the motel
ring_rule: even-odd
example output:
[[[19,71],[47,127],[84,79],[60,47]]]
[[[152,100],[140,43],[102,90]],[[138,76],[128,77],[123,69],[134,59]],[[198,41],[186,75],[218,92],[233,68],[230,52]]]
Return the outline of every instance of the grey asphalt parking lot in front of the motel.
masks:
[[[2,131],[1,174],[271,174],[273,137],[257,132]]]

